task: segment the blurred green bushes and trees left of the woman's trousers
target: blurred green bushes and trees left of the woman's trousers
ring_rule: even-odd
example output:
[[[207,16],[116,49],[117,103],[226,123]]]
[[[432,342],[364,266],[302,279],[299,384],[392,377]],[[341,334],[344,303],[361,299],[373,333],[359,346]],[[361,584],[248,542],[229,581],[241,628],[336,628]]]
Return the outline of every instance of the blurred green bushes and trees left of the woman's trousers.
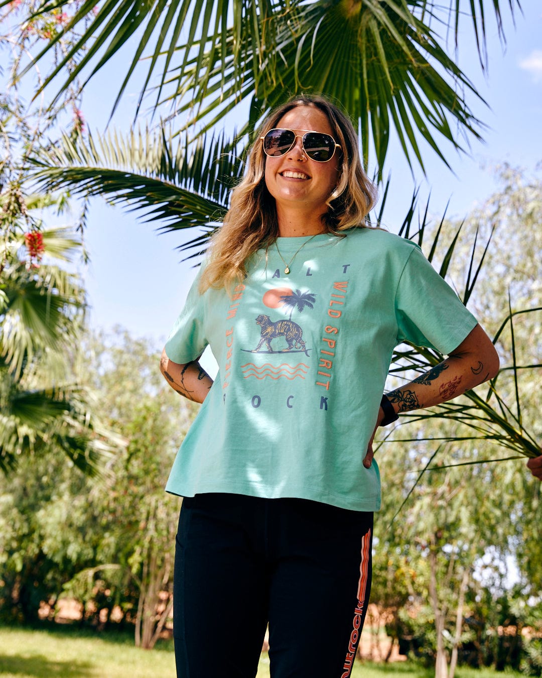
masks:
[[[136,643],[152,647],[171,615],[178,498],[163,490],[194,407],[163,383],[159,357],[144,340],[117,332],[93,340],[80,370],[97,394],[106,425],[123,451],[107,481],[66,466],[52,450],[21,462],[2,481],[0,609],[31,621],[39,605],[74,597],[83,620],[133,622]]]

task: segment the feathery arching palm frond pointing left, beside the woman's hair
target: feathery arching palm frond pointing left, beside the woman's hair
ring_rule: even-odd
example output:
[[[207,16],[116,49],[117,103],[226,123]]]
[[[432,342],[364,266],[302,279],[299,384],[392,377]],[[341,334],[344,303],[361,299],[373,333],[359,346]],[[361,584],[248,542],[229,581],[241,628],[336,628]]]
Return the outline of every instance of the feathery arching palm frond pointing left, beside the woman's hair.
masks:
[[[77,142],[64,135],[33,163],[33,180],[43,191],[101,195],[142,211],[145,221],[160,222],[161,231],[201,226],[207,236],[226,214],[230,190],[243,172],[236,144],[224,135],[189,145],[167,140],[165,129],[89,135]]]

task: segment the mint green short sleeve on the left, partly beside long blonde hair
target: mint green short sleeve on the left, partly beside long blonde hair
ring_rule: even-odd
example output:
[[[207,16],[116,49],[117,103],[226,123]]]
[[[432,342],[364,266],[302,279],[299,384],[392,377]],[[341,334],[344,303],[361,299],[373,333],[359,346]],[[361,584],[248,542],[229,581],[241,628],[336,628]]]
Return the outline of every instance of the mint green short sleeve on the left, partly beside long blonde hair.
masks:
[[[201,270],[200,266],[186,297],[186,304],[165,342],[167,357],[181,365],[199,358],[208,344],[205,337],[205,304],[198,290]]]

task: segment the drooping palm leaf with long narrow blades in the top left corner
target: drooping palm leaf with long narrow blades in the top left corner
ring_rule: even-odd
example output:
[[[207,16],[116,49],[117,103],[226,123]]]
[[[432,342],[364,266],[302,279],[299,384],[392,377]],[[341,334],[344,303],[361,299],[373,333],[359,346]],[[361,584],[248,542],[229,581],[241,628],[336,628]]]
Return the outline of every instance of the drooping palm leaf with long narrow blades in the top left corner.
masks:
[[[9,3],[9,0],[1,0],[0,7]],[[68,77],[62,83],[57,92],[54,101],[66,91],[69,85],[76,79],[85,75],[83,87],[100,69],[108,64],[110,60],[117,55],[117,52],[125,45],[133,45],[133,56],[129,62],[125,79],[121,89],[114,102],[116,108],[120,97],[127,87],[129,79],[140,64],[141,57],[145,50],[150,50],[150,63],[144,85],[140,94],[139,105],[146,92],[148,84],[154,74],[159,60],[163,62],[163,74],[160,78],[161,85],[165,79],[165,73],[169,68],[173,58],[173,49],[178,45],[181,33],[188,36],[190,45],[200,40],[199,47],[196,48],[196,64],[203,63],[205,47],[208,36],[212,45],[211,52],[219,60],[226,55],[226,31],[227,22],[230,16],[234,18],[250,18],[247,22],[251,40],[262,46],[261,36],[255,31],[259,28],[258,18],[265,18],[266,14],[272,12],[274,7],[284,10],[288,3],[280,0],[258,2],[243,2],[242,0],[216,0],[215,2],[206,2],[203,0],[182,0],[179,3],[170,3],[166,0],[106,0],[100,7],[96,16],[93,10],[96,7],[94,0],[85,0],[77,5],[74,14],[66,23],[62,31],[56,35],[41,49],[35,59],[26,66],[22,75],[25,75],[30,68],[51,54],[51,50],[58,47],[60,41],[64,41],[62,56],[55,59],[55,67],[49,75],[43,80],[37,94],[44,87],[47,87],[54,79],[62,73],[68,71]],[[62,7],[64,2],[61,0],[44,0],[37,8],[30,19],[47,14],[58,7]],[[213,21],[214,18],[214,21]],[[211,27],[212,26],[212,27]],[[241,26],[241,23],[238,23]],[[138,29],[142,28],[142,31]],[[80,31],[78,39],[70,41],[69,37],[74,31]],[[201,37],[203,36],[203,39]],[[66,41],[66,37],[68,40]],[[236,47],[234,56],[237,59],[243,47],[243,36],[236,31]],[[272,51],[272,35],[266,35],[266,48]],[[165,58],[161,55],[165,50]],[[186,49],[184,56],[180,60],[180,68],[184,69],[188,57],[192,58],[194,49]],[[56,55],[58,57],[58,54]],[[257,68],[255,64],[255,68]],[[199,68],[200,70],[200,68]],[[89,73],[89,75],[87,75]],[[202,76],[205,79],[205,75]]]

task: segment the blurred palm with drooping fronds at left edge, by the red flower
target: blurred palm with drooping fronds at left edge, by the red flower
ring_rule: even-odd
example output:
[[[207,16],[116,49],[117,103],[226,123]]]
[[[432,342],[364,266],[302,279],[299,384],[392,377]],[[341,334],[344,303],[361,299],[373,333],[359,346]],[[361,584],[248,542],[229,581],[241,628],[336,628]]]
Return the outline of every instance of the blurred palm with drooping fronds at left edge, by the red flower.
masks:
[[[96,473],[114,440],[93,416],[87,389],[73,378],[83,290],[52,260],[68,258],[79,243],[64,228],[28,226],[8,214],[0,228],[0,470],[54,444],[79,468]],[[31,239],[47,249],[50,263],[36,263],[41,252]]]

